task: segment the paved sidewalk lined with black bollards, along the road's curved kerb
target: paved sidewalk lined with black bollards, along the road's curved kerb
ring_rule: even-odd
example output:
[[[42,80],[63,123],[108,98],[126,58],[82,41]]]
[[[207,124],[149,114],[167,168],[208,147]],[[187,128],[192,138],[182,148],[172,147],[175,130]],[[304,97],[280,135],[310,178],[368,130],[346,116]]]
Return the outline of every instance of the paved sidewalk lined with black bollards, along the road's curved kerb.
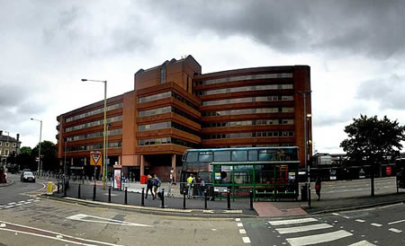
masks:
[[[54,193],[52,198],[58,198],[74,203],[83,203],[89,206],[107,206],[119,207],[124,209],[132,209],[138,212],[154,213],[154,214],[173,214],[185,216],[291,216],[291,215],[313,215],[320,213],[331,213],[343,210],[357,209],[370,206],[383,206],[394,203],[405,202],[405,192],[401,189],[400,193],[390,193],[376,195],[375,197],[358,196],[351,198],[322,198],[316,200],[316,196],[312,196],[311,207],[308,206],[308,201],[292,201],[282,200],[277,202],[260,201],[254,202],[254,210],[250,209],[249,199],[236,199],[231,201],[231,210],[228,210],[226,199],[216,199],[208,201],[208,209],[204,210],[204,199],[186,199],[186,209],[183,209],[183,196],[180,194],[179,185],[172,186],[171,193],[174,198],[165,197],[165,208],[161,208],[160,200],[152,200],[150,194],[148,199],[144,200],[145,206],[141,205],[141,189],[145,187],[140,183],[124,183],[128,187],[128,205],[124,204],[124,192],[112,189],[112,202],[108,203],[108,188],[103,189],[102,183],[98,182],[96,186],[96,199],[93,201],[94,185],[81,185],[81,199],[77,199],[78,184],[70,183],[70,188],[67,189],[67,197],[63,198],[60,194]],[[166,188],[168,183],[164,183]],[[167,189],[167,188],[166,188]]]

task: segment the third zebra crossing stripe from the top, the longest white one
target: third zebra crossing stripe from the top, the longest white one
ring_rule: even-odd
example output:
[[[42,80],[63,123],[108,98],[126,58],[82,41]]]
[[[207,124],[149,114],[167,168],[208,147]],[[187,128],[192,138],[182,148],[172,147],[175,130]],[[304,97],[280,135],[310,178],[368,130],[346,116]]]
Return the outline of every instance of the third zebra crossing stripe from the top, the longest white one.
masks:
[[[333,233],[322,233],[322,234],[315,234],[311,236],[303,236],[303,237],[295,237],[295,238],[287,238],[287,242],[290,242],[292,246],[303,246],[303,245],[311,245],[320,242],[331,242],[341,238],[345,238],[348,236],[352,236],[352,233],[348,233],[345,230],[340,230]]]

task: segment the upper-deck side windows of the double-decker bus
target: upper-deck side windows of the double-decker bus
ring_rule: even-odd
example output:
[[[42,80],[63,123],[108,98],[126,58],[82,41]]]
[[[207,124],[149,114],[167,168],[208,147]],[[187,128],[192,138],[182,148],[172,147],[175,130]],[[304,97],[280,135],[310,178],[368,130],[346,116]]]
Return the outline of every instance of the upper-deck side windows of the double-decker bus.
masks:
[[[185,160],[187,163],[296,161],[298,155],[295,149],[193,151],[187,153]]]

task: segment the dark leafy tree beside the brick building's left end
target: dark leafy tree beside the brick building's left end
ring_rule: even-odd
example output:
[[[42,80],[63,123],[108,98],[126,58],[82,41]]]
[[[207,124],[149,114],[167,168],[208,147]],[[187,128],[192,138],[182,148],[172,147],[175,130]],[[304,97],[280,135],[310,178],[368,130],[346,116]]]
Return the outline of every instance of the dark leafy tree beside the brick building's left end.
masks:
[[[42,163],[42,170],[56,171],[58,170],[57,146],[50,141],[43,141],[40,145],[36,145],[32,151],[31,156],[38,157],[40,147],[40,162]],[[38,164],[38,163],[37,163]]]

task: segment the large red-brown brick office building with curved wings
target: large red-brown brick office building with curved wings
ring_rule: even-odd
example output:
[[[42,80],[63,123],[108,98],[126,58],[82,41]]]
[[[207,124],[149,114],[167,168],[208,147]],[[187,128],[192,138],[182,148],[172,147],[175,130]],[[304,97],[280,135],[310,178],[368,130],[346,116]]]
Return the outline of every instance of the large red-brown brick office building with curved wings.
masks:
[[[109,171],[179,178],[187,148],[297,145],[303,150],[303,101],[309,66],[268,66],[202,75],[191,56],[140,69],[134,91],[107,100]],[[311,96],[307,97],[311,113]],[[60,167],[84,166],[103,151],[103,101],[58,116]],[[308,128],[311,136],[311,121]],[[311,138],[311,137],[310,137]],[[66,151],[65,151],[66,150]],[[300,152],[303,163],[304,152]]]

